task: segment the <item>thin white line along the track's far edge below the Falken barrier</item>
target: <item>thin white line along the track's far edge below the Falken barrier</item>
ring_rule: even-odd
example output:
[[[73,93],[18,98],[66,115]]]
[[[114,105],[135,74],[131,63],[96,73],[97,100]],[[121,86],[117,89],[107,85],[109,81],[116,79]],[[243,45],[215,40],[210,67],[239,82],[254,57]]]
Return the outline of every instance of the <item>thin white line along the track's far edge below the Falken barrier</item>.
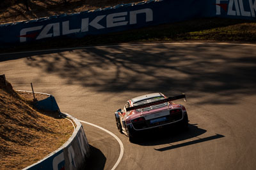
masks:
[[[19,54],[19,53],[32,53],[32,52],[51,52],[56,50],[78,50],[83,48],[95,48],[95,47],[114,47],[114,46],[137,46],[137,45],[244,45],[244,46],[256,46],[256,44],[240,44],[240,43],[141,43],[141,44],[124,44],[124,45],[101,45],[101,46],[81,46],[81,47],[72,47],[72,48],[56,48],[51,50],[35,50],[27,52],[14,52],[14,53],[0,53],[1,55],[10,55],[10,54]]]

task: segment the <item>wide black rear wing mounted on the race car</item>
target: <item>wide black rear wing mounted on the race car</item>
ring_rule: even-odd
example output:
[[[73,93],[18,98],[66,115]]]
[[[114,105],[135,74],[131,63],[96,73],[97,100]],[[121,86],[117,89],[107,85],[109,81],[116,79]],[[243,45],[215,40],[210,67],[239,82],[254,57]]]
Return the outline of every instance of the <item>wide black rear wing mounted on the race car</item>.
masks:
[[[168,97],[168,98],[163,99],[163,100],[154,101],[154,102],[150,102],[150,103],[146,103],[146,104],[141,104],[139,106],[132,106],[130,108],[126,108],[126,111],[137,110],[137,109],[140,109],[140,108],[147,108],[148,106],[152,106],[152,105],[160,104],[160,103],[166,103],[168,101],[175,101],[177,99],[184,99],[184,101],[187,101],[186,94],[182,94],[182,95],[174,96],[174,97]]]

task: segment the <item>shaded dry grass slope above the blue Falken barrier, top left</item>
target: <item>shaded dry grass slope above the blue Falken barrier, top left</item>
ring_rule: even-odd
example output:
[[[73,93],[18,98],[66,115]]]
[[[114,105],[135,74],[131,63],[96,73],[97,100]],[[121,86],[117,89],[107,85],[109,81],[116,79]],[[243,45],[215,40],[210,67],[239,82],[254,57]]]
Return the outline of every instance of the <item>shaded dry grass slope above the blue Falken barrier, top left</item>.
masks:
[[[49,17],[63,13],[77,13],[86,10],[97,10],[99,8],[107,8],[117,4],[138,3],[142,0],[68,0],[67,4],[63,3],[63,0],[31,0],[29,2],[30,11],[25,10],[22,1],[20,1],[20,3],[15,3],[15,1],[12,3],[12,1],[13,0],[6,3],[3,7],[0,6],[0,24]]]

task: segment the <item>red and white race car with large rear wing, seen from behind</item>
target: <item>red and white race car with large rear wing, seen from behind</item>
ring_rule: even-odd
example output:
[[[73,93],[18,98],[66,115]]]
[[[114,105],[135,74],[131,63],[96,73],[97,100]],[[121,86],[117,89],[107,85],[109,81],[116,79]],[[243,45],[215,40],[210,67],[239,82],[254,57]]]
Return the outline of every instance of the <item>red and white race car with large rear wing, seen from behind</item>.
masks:
[[[124,133],[129,141],[143,131],[179,125],[180,128],[188,127],[188,113],[181,104],[172,101],[184,99],[186,95],[166,97],[161,93],[147,94],[130,99],[124,109],[115,112],[116,127]]]

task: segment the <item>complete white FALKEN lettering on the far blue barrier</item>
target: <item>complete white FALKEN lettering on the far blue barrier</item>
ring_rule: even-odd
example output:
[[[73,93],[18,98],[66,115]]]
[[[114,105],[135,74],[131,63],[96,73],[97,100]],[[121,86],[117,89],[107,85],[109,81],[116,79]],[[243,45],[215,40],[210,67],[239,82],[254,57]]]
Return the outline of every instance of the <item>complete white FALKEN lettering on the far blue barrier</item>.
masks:
[[[220,1],[220,0],[217,0],[217,1]],[[125,11],[120,13],[111,13],[109,15],[99,15],[93,18],[93,20],[90,20],[90,18],[82,18],[80,28],[70,29],[70,21],[67,20],[61,23],[56,22],[52,24],[47,24],[45,26],[40,25],[37,27],[29,27],[29,28],[21,29],[20,42],[26,42],[27,41],[26,35],[28,35],[32,31],[40,31],[38,36],[36,36],[36,39],[43,39],[43,38],[60,36],[61,33],[62,35],[67,35],[67,34],[74,34],[79,32],[88,32],[90,31],[90,27],[93,27],[94,29],[105,29],[105,28],[118,27],[118,26],[127,25],[127,24],[130,24],[130,25],[137,24],[137,17],[140,14],[145,15],[146,22],[150,22],[153,20],[153,11],[150,8],[130,11],[129,13]],[[129,20],[127,20],[128,16],[129,16]],[[99,23],[104,18],[106,18],[106,27],[104,27],[103,25],[100,25]],[[60,27],[60,24],[62,25],[62,27]]]

